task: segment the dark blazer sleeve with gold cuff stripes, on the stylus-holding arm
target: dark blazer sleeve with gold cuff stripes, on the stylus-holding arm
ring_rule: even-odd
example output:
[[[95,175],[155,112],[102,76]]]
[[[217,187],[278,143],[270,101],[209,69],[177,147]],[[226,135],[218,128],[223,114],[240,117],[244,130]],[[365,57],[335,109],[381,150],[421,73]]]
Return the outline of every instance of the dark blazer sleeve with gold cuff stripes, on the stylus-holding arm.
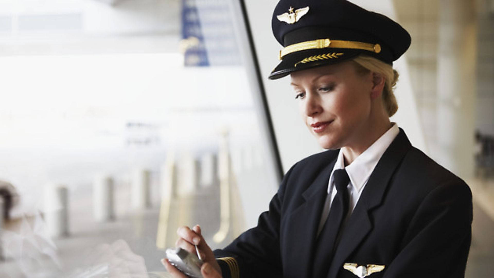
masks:
[[[257,226],[247,230],[224,249],[214,250],[223,277],[282,277],[280,219],[285,188],[295,165],[287,172]]]

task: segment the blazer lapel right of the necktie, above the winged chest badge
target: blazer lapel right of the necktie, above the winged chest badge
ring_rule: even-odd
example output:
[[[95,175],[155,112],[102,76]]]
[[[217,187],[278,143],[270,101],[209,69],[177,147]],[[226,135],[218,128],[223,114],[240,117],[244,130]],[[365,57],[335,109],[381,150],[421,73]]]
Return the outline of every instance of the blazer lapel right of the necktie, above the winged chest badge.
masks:
[[[336,248],[328,278],[336,278],[343,263],[359,246],[364,237],[371,231],[372,222],[369,211],[381,204],[389,181],[408,150],[412,147],[405,132],[400,133],[386,149],[377,163],[353,213],[348,219]]]

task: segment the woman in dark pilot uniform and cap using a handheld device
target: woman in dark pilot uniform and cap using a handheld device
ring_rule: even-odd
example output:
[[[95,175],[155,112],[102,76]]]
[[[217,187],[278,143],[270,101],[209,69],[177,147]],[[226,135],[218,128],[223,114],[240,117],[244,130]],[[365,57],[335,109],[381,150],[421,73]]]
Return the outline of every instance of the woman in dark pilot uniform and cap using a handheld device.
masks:
[[[470,189],[389,120],[408,32],[346,0],[281,0],[272,28],[283,49],[269,78],[290,75],[328,150],[293,165],[258,225],[224,249],[199,226],[180,228],[177,246],[198,245],[204,277],[464,277]]]

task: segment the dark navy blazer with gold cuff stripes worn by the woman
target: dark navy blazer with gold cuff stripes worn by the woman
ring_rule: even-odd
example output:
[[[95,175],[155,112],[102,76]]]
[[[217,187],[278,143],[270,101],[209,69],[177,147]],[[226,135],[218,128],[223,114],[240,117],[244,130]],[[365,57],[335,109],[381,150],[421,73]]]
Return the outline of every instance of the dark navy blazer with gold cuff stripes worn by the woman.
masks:
[[[257,226],[214,251],[223,277],[312,277],[337,155],[328,150],[291,167]],[[344,263],[384,266],[370,278],[464,277],[471,223],[468,185],[413,147],[400,129],[347,219],[327,277],[358,277]]]

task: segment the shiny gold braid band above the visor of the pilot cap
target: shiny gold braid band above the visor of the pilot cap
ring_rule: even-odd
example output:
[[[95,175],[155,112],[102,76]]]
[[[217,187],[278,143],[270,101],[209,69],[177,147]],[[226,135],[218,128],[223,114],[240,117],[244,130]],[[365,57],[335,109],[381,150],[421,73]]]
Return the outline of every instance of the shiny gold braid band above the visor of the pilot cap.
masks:
[[[350,48],[350,49],[368,50],[375,53],[381,52],[381,46],[379,44],[319,39],[319,40],[307,41],[307,42],[301,42],[301,43],[289,45],[280,50],[279,58],[281,60],[286,55],[297,51],[308,50],[308,49],[321,49],[321,48]]]

